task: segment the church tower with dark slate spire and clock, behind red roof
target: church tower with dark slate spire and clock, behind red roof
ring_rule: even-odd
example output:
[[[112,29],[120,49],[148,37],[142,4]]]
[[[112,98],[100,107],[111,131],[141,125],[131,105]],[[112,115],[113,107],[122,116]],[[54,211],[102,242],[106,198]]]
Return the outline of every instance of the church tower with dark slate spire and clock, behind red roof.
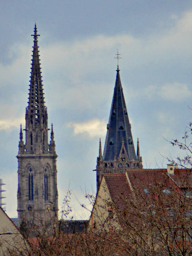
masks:
[[[117,58],[119,58],[118,55],[117,52]],[[143,168],[139,140],[137,140],[137,154],[133,144],[131,124],[129,123],[123,88],[120,81],[119,65],[117,65],[116,72],[116,84],[113,93],[109,122],[107,124],[104,153],[102,156],[100,141],[99,157],[97,157],[97,191],[103,173],[124,173],[126,168]]]

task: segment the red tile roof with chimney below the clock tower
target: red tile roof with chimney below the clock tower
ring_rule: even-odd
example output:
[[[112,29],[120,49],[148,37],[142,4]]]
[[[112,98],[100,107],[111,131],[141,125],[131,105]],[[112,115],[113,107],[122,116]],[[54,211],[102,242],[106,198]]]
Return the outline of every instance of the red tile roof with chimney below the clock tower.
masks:
[[[167,169],[126,169],[130,184],[125,174],[104,174],[104,179],[112,200],[124,195],[132,195],[132,189],[140,194],[146,194],[144,188],[150,192],[151,188],[160,185],[162,189],[171,188],[176,184],[178,188],[192,188],[192,170],[174,169],[174,174],[169,174]]]

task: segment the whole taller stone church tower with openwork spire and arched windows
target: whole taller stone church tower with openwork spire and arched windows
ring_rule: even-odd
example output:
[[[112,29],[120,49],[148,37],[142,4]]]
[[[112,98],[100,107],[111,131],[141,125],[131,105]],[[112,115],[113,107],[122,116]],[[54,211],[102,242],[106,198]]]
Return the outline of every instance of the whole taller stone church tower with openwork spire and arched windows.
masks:
[[[18,159],[18,225],[24,221],[29,227],[38,221],[57,218],[58,191],[56,149],[53,126],[48,144],[48,112],[44,105],[40,58],[37,45],[37,28],[34,29],[32,71],[26,108],[26,143],[22,127]]]

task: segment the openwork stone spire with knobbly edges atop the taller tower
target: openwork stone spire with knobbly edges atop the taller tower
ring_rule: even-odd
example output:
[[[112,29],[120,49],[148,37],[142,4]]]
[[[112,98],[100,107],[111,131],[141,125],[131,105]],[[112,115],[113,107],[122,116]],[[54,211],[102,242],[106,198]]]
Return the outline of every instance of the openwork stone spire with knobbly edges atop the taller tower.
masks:
[[[29,84],[28,107],[26,108],[26,150],[42,154],[48,152],[48,114],[44,105],[44,93],[40,68],[38,35],[35,24],[32,35],[32,67]]]

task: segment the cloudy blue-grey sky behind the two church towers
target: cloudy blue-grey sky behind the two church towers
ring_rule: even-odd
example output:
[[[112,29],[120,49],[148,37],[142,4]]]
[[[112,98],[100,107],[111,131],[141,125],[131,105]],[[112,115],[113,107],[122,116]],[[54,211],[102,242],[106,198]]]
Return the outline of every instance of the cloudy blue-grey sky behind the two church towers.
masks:
[[[0,0],[0,178],[7,184],[10,217],[17,216],[16,155],[35,22],[49,127],[53,123],[59,156],[59,207],[70,184],[72,214],[87,218],[78,201],[84,202],[85,190],[96,192],[92,170],[99,138],[104,147],[117,48],[144,168],[166,167],[164,157],[183,154],[164,138],[182,138],[192,121],[192,1]]]

